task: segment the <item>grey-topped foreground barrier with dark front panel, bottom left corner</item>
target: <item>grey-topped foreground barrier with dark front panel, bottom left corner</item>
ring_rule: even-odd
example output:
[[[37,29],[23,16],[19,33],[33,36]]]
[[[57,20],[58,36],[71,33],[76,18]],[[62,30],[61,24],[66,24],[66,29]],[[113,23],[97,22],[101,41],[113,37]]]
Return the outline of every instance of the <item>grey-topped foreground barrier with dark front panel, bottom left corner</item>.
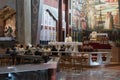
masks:
[[[53,80],[53,77],[54,80],[56,80],[58,61],[59,58],[55,58],[54,60],[51,59],[47,63],[42,64],[25,64],[0,67],[0,80]]]

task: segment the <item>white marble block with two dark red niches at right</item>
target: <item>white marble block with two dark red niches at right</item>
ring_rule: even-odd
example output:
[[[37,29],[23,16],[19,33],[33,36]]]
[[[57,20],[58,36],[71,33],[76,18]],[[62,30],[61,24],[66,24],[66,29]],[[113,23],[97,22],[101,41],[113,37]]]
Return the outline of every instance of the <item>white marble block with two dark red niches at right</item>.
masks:
[[[111,62],[111,52],[80,52],[88,56],[88,65],[108,65]]]

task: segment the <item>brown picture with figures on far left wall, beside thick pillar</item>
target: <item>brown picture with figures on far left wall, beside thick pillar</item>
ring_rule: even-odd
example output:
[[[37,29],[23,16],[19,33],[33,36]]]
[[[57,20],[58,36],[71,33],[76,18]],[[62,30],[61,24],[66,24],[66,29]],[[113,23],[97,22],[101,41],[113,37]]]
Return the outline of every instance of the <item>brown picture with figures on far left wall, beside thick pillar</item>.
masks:
[[[0,0],[0,41],[16,38],[16,0]]]

